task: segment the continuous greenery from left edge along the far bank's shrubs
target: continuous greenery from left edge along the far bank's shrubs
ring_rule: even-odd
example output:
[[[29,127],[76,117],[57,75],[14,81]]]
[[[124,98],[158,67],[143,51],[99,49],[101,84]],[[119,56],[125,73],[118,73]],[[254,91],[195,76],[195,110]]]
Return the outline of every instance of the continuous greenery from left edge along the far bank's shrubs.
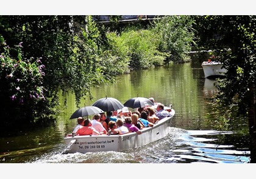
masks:
[[[110,16],[112,29],[118,26],[119,18]],[[185,19],[172,22],[184,25]],[[162,66],[168,50],[174,54],[182,48],[177,54],[186,58],[183,51],[189,48],[182,47],[187,44],[180,41],[190,38],[185,38],[182,30],[176,33],[176,49],[166,46],[169,49],[160,51],[164,33],[142,26],[132,25],[133,29],[116,33],[92,16],[0,16],[1,120],[10,125],[12,115],[32,123],[51,118],[57,112],[59,92],[74,93],[79,107],[82,98],[93,99],[91,87],[112,83],[130,69]],[[168,24],[161,27],[163,30]],[[20,44],[18,49],[16,44]]]

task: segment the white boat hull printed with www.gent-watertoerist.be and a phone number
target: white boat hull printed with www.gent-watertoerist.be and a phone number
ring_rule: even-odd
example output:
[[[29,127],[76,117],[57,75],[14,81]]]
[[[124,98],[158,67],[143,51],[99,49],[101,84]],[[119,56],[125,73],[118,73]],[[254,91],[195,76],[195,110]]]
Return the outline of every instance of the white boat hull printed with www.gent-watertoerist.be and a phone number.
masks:
[[[75,137],[65,137],[65,144],[69,147],[69,152],[101,152],[115,151],[121,152],[135,147],[144,146],[160,140],[169,133],[169,123],[175,114],[172,109],[172,117],[163,118],[153,127],[146,127],[141,130],[141,134],[130,132],[123,135],[83,135]]]

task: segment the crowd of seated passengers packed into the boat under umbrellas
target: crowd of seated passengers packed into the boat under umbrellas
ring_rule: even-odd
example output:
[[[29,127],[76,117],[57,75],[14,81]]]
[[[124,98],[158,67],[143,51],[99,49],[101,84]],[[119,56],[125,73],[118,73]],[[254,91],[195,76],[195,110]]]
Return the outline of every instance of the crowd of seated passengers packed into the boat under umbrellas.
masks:
[[[171,109],[165,105],[155,103],[154,98],[149,98],[154,106],[146,106],[131,112],[128,107],[122,110],[96,113],[93,119],[77,118],[74,135],[121,135],[128,132],[137,132],[139,135],[145,127],[152,127],[165,117],[171,117]],[[68,136],[72,136],[68,134]]]

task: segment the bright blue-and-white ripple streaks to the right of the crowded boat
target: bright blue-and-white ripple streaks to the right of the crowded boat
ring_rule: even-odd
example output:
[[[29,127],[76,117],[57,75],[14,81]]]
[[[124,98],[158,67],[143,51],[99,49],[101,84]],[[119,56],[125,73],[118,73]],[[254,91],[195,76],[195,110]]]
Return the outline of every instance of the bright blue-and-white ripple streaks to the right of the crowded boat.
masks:
[[[235,134],[232,131],[180,130],[176,141],[179,149],[173,149],[171,157],[165,160],[176,163],[249,163],[248,148],[223,145],[219,140],[223,135]]]

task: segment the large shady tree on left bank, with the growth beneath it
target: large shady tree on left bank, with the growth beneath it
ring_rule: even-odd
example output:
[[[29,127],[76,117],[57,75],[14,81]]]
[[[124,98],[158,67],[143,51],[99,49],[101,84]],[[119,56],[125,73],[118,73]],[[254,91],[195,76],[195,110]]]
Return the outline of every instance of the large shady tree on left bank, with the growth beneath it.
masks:
[[[114,59],[116,57],[108,49],[110,41],[107,30],[96,24],[91,16],[0,16],[0,42],[0,93],[1,99],[5,100],[5,106],[1,108],[1,129],[7,129],[6,125],[18,126],[17,122],[20,120],[25,123],[42,118],[51,119],[51,115],[57,112],[55,107],[59,104],[59,92],[75,93],[78,105],[82,97],[88,96],[89,100],[93,98],[90,90],[92,86],[113,82],[116,74],[126,70],[120,63],[112,66],[115,68],[115,75],[107,69],[108,58],[104,52],[108,50],[108,55],[114,56]],[[16,49],[17,44],[22,44],[22,51]],[[35,64],[38,59],[40,66]],[[6,66],[7,62],[12,67]],[[24,80],[26,83],[20,86],[20,91],[27,91],[19,93],[23,98],[30,98],[29,92],[34,91],[35,87],[41,90],[37,95],[43,93],[44,100],[35,106],[32,103],[23,103],[21,108],[13,103],[11,97],[14,92],[18,92],[13,90],[11,93],[10,86],[18,87],[21,82],[7,81],[6,76],[14,74],[16,64],[18,67],[23,64],[26,72],[13,79],[30,76],[25,79],[32,81],[40,78],[36,84],[26,86],[30,81]],[[39,73],[31,73],[32,69],[38,68]],[[13,107],[18,108],[16,113],[12,113]]]

